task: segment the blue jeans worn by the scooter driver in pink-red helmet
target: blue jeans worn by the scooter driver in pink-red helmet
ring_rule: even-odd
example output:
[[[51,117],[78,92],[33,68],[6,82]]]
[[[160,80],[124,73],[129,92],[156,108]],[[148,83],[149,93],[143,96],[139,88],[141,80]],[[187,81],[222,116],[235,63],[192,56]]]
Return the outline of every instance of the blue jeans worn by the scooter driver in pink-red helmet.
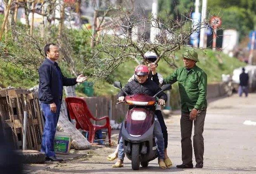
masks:
[[[155,136],[155,141],[157,145],[158,159],[164,159],[164,137],[163,137],[160,123],[157,120],[156,116],[155,116],[155,126],[154,126],[153,134]],[[119,141],[119,148],[118,148],[118,159],[123,160],[123,158],[124,158],[123,138],[121,137]]]

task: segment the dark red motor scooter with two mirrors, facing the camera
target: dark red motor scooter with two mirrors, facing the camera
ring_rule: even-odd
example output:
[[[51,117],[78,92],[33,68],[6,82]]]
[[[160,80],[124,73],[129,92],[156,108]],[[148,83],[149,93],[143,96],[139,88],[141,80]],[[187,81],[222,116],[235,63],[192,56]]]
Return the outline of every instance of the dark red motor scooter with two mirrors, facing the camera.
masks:
[[[119,81],[114,82],[116,88],[122,89]],[[124,152],[129,160],[132,161],[132,169],[140,169],[147,167],[149,161],[157,158],[156,143],[153,134],[154,130],[154,110],[158,102],[156,95],[162,91],[171,89],[171,85],[164,85],[162,90],[153,97],[146,94],[128,95],[126,93],[125,100],[130,108],[126,114],[126,118],[122,128],[122,138]],[[122,103],[122,102],[118,102]]]

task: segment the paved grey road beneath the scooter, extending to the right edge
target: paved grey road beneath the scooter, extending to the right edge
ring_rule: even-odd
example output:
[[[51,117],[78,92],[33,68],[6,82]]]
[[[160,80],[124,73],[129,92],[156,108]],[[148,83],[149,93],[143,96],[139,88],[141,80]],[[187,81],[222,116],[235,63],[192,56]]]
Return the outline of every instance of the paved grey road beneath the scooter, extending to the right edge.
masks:
[[[249,97],[222,98],[209,103],[204,126],[204,168],[178,169],[181,164],[180,114],[166,119],[168,127],[168,154],[173,168],[159,169],[157,160],[139,171],[131,169],[125,158],[123,168],[112,168],[106,156],[114,148],[101,148],[63,163],[29,166],[35,173],[177,173],[177,174],[256,174],[256,125],[245,125],[244,121],[256,122],[256,94]],[[116,135],[114,135],[116,137]],[[193,158],[195,165],[195,160]],[[31,168],[32,167],[32,168]],[[35,167],[35,165],[34,165]],[[41,167],[41,168],[40,168]]]

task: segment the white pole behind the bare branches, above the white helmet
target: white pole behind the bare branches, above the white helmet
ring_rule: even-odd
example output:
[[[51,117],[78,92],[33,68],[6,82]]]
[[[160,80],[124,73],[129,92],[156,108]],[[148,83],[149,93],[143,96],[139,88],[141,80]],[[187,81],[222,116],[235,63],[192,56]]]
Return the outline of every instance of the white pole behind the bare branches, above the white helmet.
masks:
[[[155,42],[155,37],[158,34],[158,29],[156,26],[155,19],[157,18],[157,9],[158,9],[158,0],[153,0],[152,3],[152,21],[151,21],[151,28],[150,28],[150,41],[151,43]]]

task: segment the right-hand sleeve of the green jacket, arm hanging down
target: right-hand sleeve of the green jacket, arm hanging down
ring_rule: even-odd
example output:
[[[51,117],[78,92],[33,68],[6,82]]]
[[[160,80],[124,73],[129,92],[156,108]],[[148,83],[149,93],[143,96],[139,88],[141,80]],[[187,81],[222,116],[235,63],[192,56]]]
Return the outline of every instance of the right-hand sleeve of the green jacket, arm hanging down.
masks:
[[[199,96],[196,105],[194,108],[197,110],[201,110],[202,105],[206,101],[206,94],[207,94],[207,75],[204,72],[201,72],[199,75],[199,83],[198,83],[198,89],[199,89]]]

